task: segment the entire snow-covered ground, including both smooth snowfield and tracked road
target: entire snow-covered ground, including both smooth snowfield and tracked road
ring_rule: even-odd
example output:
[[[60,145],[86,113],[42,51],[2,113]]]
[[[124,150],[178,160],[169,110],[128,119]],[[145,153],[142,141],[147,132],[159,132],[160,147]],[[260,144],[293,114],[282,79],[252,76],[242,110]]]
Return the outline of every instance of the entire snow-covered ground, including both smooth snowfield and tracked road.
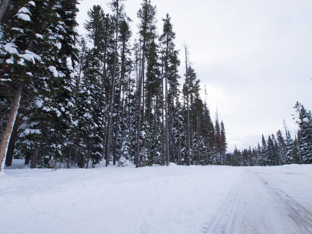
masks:
[[[9,168],[3,234],[312,233],[312,165]]]

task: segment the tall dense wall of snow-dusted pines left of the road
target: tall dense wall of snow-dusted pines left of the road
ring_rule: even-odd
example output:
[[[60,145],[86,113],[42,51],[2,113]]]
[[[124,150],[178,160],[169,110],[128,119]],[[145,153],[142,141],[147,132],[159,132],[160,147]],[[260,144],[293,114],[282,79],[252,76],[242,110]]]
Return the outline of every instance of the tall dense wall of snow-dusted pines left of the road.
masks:
[[[104,159],[137,167],[225,164],[224,123],[213,122],[200,98],[186,45],[179,83],[170,16],[159,35],[156,6],[143,0],[133,40],[123,0],[109,6],[112,13],[100,5],[88,11],[85,37],[76,30],[76,0],[16,0],[2,11],[2,168],[13,156],[31,168],[88,168]]]

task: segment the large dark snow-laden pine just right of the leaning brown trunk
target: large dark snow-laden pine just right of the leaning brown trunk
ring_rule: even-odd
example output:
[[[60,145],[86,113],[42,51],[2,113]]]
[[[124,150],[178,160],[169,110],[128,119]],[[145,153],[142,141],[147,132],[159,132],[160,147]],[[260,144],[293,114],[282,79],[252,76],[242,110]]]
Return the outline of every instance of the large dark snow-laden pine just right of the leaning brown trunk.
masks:
[[[61,96],[65,98],[65,87],[62,82],[65,80],[64,77],[69,77],[71,74],[71,72],[66,72],[69,68],[66,65],[62,66],[60,61],[62,59],[66,61],[66,55],[70,57],[74,54],[70,52],[74,51],[74,48],[66,50],[67,43],[70,42],[63,35],[70,35],[70,30],[75,27],[75,20],[70,23],[66,21],[70,17],[74,19],[75,8],[72,9],[72,16],[64,15],[62,13],[64,11],[60,10],[62,4],[66,8],[69,1],[37,1],[36,3],[29,1],[18,10],[18,14],[15,15],[18,19],[11,21],[13,24],[18,24],[13,28],[19,27],[17,30],[19,34],[14,35],[16,44],[13,47],[16,52],[14,56],[18,55],[19,60],[16,57],[14,60],[25,81],[22,88],[28,99],[25,101],[27,104],[17,145],[21,155],[27,155],[33,151],[32,168],[36,167],[39,154],[41,155],[39,164],[44,167],[49,166],[48,161],[52,157],[61,155],[63,142],[62,137],[59,136],[63,134],[57,130],[57,127],[58,123],[64,123],[61,112],[64,110],[64,113],[69,114],[59,105],[60,101],[54,99],[54,97]],[[71,2],[70,7],[75,7],[75,4],[75,1]],[[12,34],[8,32],[7,35],[10,40]],[[14,62],[11,66],[14,67]],[[16,77],[16,72],[14,76]],[[68,85],[71,86],[67,84],[67,87]],[[70,99],[70,94],[65,100],[68,100],[68,97]],[[69,122],[71,122],[70,119]],[[53,139],[58,139],[58,142]]]

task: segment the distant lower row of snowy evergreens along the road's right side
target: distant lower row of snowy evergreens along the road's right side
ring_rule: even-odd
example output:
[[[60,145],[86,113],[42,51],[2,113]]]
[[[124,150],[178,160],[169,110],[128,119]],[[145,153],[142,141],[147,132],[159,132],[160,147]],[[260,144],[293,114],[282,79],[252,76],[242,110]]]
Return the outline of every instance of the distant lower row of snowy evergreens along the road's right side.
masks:
[[[278,166],[284,164],[312,163],[312,116],[311,111],[297,102],[295,110],[298,115],[296,123],[299,125],[295,139],[285,126],[285,136],[281,130],[276,135],[269,135],[266,139],[262,135],[261,145],[244,149],[242,152],[236,146],[233,154],[227,154],[228,165],[232,166]]]

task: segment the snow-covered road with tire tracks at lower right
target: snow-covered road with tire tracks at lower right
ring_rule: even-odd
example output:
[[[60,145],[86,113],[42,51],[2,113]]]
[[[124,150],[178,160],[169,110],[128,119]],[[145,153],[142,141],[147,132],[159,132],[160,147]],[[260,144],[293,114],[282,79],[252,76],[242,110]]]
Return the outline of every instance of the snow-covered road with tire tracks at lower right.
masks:
[[[300,171],[295,165],[242,170],[230,196],[203,232],[312,233],[311,173]]]

